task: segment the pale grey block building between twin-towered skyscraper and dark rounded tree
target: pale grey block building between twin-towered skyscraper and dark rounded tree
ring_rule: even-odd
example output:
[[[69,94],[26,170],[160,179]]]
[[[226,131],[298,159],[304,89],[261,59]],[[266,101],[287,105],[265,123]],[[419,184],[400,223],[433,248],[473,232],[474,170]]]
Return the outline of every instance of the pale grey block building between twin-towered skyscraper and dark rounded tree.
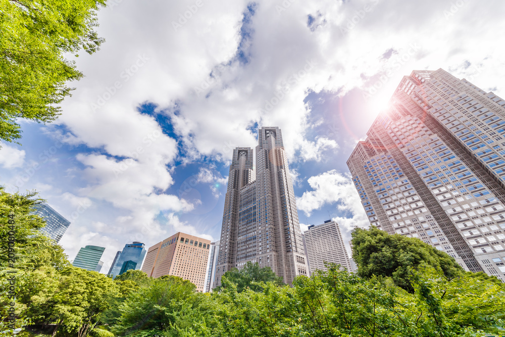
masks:
[[[321,225],[310,225],[304,236],[311,273],[316,269],[326,271],[325,262],[333,262],[352,271],[340,228],[335,221],[326,220]]]

